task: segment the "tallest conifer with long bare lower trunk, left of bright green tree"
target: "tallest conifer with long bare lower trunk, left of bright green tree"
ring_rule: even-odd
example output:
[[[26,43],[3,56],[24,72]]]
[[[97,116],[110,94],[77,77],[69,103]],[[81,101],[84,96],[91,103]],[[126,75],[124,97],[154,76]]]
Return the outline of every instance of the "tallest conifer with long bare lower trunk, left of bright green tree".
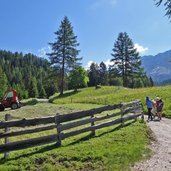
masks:
[[[79,50],[77,50],[77,36],[74,35],[73,27],[69,19],[65,16],[59,30],[55,32],[56,40],[54,43],[49,43],[52,52],[48,54],[52,65],[56,65],[61,69],[61,86],[60,94],[64,91],[64,76],[68,70],[78,66]]]

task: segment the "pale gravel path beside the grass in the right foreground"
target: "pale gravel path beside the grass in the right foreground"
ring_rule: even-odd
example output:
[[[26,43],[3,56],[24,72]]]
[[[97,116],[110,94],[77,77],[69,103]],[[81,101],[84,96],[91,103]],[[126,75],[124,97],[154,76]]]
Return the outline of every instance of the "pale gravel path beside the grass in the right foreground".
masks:
[[[162,118],[147,124],[157,140],[151,145],[154,155],[134,166],[132,171],[171,171],[171,119]]]

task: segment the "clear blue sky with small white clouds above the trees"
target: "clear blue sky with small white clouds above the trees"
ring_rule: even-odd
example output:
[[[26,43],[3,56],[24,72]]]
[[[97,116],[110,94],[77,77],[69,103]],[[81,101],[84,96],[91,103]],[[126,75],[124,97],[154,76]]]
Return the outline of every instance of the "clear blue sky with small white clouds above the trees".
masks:
[[[171,22],[154,0],[0,0],[0,49],[47,58],[67,16],[80,43],[82,66],[110,62],[120,32],[141,56],[171,49]]]

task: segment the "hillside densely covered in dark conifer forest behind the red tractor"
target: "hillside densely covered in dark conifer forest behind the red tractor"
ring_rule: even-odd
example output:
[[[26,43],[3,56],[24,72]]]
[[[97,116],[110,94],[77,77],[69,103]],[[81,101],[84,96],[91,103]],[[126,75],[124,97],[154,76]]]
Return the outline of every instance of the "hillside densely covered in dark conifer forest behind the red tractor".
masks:
[[[0,75],[4,75],[3,80],[0,78],[0,83],[4,91],[13,87],[20,98],[52,95],[55,81],[51,83],[50,72],[50,65],[46,59],[30,53],[0,50]],[[0,97],[4,95],[4,91],[0,90]]]

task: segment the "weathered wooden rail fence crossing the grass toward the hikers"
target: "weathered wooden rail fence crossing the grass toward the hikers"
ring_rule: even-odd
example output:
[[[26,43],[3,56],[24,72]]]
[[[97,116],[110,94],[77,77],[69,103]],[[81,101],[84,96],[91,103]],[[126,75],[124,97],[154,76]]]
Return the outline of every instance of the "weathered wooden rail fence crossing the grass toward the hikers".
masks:
[[[5,132],[0,132],[0,139],[5,139],[4,143],[0,145],[0,153],[4,153],[4,157],[7,157],[8,152],[10,151],[53,142],[61,145],[61,141],[65,138],[88,131],[91,131],[91,133],[95,135],[95,130],[97,129],[115,124],[124,125],[124,122],[132,119],[136,120],[137,117],[141,116],[141,114],[142,106],[139,100],[70,114],[57,114],[56,116],[44,118],[10,120],[10,115],[7,114],[5,116],[5,121],[0,122],[0,130],[5,130]],[[34,127],[30,128],[31,126]],[[15,127],[13,131],[11,129],[12,127]],[[15,142],[10,142],[9,139],[14,136],[37,133],[52,130],[54,128],[56,128],[56,133],[52,135],[19,140]]]

